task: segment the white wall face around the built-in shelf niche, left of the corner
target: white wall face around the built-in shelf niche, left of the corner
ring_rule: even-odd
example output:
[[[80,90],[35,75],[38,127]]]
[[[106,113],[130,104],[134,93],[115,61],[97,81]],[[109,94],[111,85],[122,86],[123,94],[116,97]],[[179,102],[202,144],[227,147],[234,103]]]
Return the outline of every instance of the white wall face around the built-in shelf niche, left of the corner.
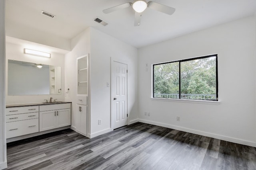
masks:
[[[90,28],[86,29],[71,40],[71,52],[65,55],[65,100],[72,102],[71,124],[72,129],[76,129],[77,122],[80,117],[74,110],[76,108],[77,96],[77,61],[76,59],[82,55],[90,54]],[[88,111],[90,112],[90,110]],[[89,114],[89,113],[88,113]],[[90,131],[90,114],[88,120],[88,131]]]

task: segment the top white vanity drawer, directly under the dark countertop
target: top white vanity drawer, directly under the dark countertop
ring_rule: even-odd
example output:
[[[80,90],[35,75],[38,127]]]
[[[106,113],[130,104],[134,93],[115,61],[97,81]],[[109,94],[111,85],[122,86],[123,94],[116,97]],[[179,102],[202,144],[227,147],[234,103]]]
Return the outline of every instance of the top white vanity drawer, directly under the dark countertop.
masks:
[[[39,106],[8,107],[6,108],[6,115],[32,113],[32,112],[38,112],[38,111],[39,111]]]

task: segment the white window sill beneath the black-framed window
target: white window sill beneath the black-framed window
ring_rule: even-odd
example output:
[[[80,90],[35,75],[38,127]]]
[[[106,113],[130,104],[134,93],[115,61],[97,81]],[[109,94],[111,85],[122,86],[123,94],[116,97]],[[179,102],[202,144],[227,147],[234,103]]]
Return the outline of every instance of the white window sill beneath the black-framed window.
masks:
[[[190,100],[190,99],[166,99],[166,98],[151,98],[153,101],[164,101],[164,102],[183,102],[183,103],[198,103],[198,104],[213,104],[219,105],[220,101],[210,100]]]

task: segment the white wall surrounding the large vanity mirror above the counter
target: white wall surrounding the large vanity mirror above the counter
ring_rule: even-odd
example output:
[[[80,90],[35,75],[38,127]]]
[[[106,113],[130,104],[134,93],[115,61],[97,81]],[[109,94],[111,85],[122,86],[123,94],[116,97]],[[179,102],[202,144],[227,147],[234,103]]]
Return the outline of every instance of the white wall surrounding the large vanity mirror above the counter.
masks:
[[[17,39],[17,41],[21,41]],[[36,50],[40,51],[40,45],[37,44]],[[51,58],[38,57],[33,55],[24,54],[24,48],[30,48],[30,45],[27,45],[26,41],[22,44],[8,43],[6,42],[6,78],[8,78],[8,59],[17,60],[17,61],[26,61],[30,63],[38,64],[47,64],[53,66],[61,66],[61,82],[62,82],[62,93],[60,95],[21,95],[21,96],[8,96],[8,84],[6,81],[6,104],[21,104],[21,103],[37,103],[44,102],[45,99],[48,101],[50,97],[58,99],[58,101],[64,100],[64,55],[60,53],[51,53]],[[45,45],[42,45],[42,49],[45,48]],[[33,49],[33,48],[32,48]],[[44,51],[44,50],[42,50]]]

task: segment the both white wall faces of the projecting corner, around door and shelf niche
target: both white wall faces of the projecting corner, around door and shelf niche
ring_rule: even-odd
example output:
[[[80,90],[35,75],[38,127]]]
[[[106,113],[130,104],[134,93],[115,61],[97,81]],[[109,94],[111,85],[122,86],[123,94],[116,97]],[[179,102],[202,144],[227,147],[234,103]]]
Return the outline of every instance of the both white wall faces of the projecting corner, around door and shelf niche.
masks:
[[[110,87],[106,86],[110,82],[110,57],[128,64],[128,121],[137,119],[137,49],[92,27],[72,39],[71,44],[72,51],[65,55],[65,84],[70,88],[65,99],[73,102],[73,108],[76,107],[77,94],[76,58],[87,53],[90,56],[88,136],[95,137],[110,131]],[[98,119],[102,119],[101,125],[98,125]],[[74,129],[76,121],[79,118],[73,109]]]

